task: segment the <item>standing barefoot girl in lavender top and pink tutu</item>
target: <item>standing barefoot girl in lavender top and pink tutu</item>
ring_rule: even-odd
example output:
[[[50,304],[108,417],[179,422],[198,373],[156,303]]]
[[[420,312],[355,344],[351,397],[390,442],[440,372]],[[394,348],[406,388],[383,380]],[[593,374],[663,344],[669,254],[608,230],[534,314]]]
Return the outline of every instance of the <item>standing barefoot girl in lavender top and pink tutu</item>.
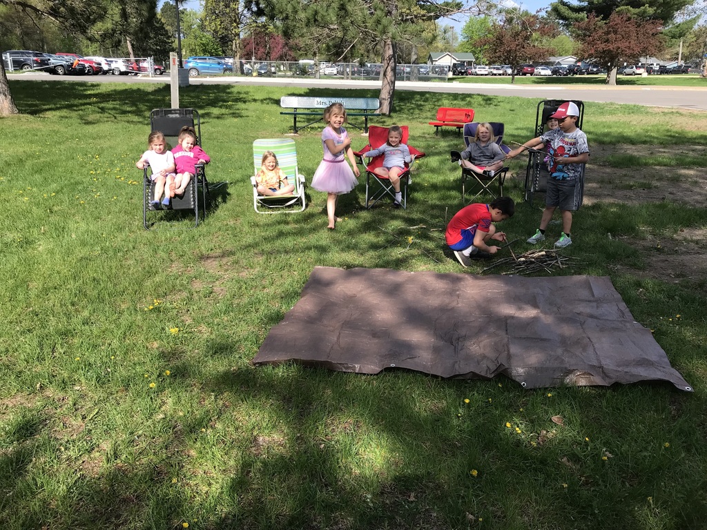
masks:
[[[327,124],[322,131],[322,148],[324,160],[317,167],[312,177],[312,188],[317,192],[327,192],[327,228],[334,230],[337,221],[341,220],[335,213],[339,194],[349,193],[358,184],[358,167],[354,151],[351,150],[351,139],[346,129],[342,127],[346,122],[346,109],[341,103],[332,103],[324,110],[324,122]],[[351,167],[346,163],[349,157]]]

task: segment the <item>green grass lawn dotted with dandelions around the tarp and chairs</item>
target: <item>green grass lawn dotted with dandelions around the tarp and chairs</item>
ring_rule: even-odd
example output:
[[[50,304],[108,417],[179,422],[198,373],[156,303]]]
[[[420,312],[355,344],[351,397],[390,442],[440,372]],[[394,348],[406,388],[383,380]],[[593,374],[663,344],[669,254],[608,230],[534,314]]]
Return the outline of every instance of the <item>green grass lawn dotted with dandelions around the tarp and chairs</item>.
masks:
[[[2,528],[705,528],[706,281],[651,279],[631,245],[703,230],[705,208],[679,197],[583,207],[567,249],[583,264],[565,273],[610,276],[694,394],[250,364],[315,266],[462,271],[440,230],[463,206],[448,159],[460,137],[436,137],[427,122],[438,106],[473,107],[524,141],[537,101],[397,92],[395,114],[375,123],[409,124],[427,153],[409,208],[366,211],[356,189],[330,232],[325,194],[310,189],[303,213],[258,215],[249,177],[252,141],[291,126],[281,95],[332,90],[182,89],[182,106],[201,112],[209,180],[224,184],[196,230],[147,232],[134,163],[169,88],[14,78],[11,88],[23,114],[0,121]],[[649,151],[705,145],[704,119],[588,102],[584,130],[590,146]],[[308,181],[319,131],[296,139]],[[354,135],[354,148],[365,143]],[[518,211],[501,226],[525,240],[540,208],[522,203],[524,164],[512,172]]]

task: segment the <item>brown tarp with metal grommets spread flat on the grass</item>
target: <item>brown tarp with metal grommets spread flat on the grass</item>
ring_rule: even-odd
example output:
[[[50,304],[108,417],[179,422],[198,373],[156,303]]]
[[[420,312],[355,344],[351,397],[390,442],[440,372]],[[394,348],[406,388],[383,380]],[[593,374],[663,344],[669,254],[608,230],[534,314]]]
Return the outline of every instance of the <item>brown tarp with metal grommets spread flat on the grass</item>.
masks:
[[[669,381],[691,391],[607,277],[315,267],[253,363],[510,377],[526,388]]]

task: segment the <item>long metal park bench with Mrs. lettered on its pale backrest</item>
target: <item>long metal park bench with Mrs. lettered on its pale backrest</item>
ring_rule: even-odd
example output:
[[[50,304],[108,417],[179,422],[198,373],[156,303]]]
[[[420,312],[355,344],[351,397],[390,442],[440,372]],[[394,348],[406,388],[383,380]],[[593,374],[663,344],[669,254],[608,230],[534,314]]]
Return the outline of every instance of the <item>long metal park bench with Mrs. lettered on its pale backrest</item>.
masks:
[[[363,117],[363,128],[350,122],[349,125],[356,127],[356,129],[361,129],[364,134],[368,134],[368,118],[380,116],[380,113],[375,112],[380,107],[380,102],[378,102],[377,98],[310,98],[298,95],[286,95],[280,98],[280,107],[292,109],[280,112],[280,114],[292,116],[292,131],[297,134],[300,129],[320,122],[322,120],[322,112],[332,103],[344,105],[347,118],[352,116]],[[298,116],[318,116],[318,118],[306,125],[297,126]]]

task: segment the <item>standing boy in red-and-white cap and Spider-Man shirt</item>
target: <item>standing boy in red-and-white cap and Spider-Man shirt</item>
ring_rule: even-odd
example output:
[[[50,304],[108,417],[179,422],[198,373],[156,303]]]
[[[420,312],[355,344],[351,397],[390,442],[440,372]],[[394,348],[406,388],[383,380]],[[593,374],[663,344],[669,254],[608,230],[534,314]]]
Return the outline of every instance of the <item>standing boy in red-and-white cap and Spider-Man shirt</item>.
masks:
[[[572,245],[570,230],[572,228],[572,212],[579,208],[580,188],[578,180],[582,174],[582,164],[589,160],[589,145],[587,135],[577,128],[579,108],[571,101],[560,105],[551,118],[559,122],[559,129],[552,129],[541,136],[523,143],[522,146],[510,151],[506,158],[513,158],[528,148],[548,146],[547,194],[545,194],[545,209],[540,219],[540,228],[527,242],[534,245],[545,239],[545,230],[552,219],[556,208],[562,213],[562,234],[555,242],[556,248]]]

